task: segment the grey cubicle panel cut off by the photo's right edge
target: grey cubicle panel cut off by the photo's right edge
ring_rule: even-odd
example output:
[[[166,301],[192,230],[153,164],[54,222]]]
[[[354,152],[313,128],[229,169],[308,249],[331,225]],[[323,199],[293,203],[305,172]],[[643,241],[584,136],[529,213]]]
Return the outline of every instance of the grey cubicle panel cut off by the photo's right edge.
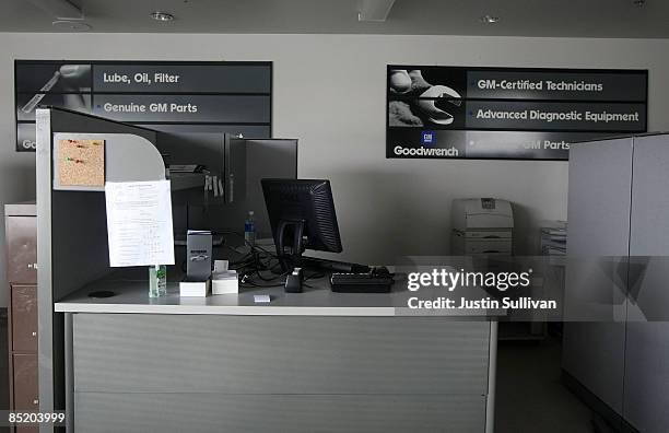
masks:
[[[634,139],[624,418],[669,432],[669,136]],[[647,321],[646,321],[647,320]]]

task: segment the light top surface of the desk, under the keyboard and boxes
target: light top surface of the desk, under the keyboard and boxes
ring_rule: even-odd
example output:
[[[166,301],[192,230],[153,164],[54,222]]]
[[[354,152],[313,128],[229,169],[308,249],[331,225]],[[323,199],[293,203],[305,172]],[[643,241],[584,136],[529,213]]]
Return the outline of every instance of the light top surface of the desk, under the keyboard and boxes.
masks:
[[[287,316],[454,316],[481,318],[480,311],[411,309],[407,300],[418,292],[406,289],[404,281],[395,283],[390,293],[334,293],[326,279],[307,282],[303,293],[285,293],[282,286],[239,289],[238,294],[180,297],[178,283],[167,283],[167,296],[149,297],[148,280],[101,280],[82,288],[55,304],[57,313],[132,313],[132,314],[189,314],[189,315],[287,315]],[[111,297],[95,299],[89,293],[109,290]],[[254,295],[269,294],[271,302],[256,304]],[[444,292],[429,293],[421,299],[443,296]],[[493,314],[494,313],[494,314]],[[503,311],[489,311],[490,315],[504,315]]]

